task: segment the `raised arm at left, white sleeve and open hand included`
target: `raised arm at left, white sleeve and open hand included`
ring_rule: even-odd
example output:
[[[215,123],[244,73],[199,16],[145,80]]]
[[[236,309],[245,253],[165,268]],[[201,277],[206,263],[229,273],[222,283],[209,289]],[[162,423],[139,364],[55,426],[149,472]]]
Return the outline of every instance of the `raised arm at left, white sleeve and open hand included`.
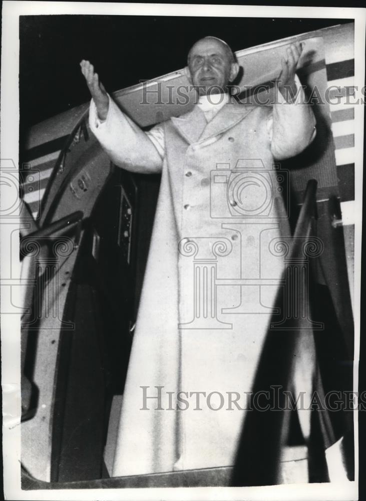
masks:
[[[93,65],[83,60],[80,66],[92,95],[91,130],[113,163],[132,172],[160,172],[162,156],[149,136],[113,102]]]

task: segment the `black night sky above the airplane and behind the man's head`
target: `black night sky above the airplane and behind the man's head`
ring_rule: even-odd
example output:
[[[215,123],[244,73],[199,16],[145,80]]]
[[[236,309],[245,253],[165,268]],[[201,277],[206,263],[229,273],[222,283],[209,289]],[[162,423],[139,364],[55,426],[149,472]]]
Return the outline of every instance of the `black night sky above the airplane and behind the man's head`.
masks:
[[[199,38],[213,35],[234,51],[327,26],[337,19],[22,16],[21,129],[90,99],[79,62],[89,59],[113,92],[186,65]]]

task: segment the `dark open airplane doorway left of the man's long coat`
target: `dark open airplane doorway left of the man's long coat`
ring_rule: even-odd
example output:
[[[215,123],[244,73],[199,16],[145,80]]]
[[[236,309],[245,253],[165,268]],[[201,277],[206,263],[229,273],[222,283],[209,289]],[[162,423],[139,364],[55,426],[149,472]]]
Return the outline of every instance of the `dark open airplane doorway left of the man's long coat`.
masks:
[[[109,413],[123,394],[157,190],[155,176],[114,167],[86,222],[65,309],[75,330],[60,344],[51,481],[107,475]]]

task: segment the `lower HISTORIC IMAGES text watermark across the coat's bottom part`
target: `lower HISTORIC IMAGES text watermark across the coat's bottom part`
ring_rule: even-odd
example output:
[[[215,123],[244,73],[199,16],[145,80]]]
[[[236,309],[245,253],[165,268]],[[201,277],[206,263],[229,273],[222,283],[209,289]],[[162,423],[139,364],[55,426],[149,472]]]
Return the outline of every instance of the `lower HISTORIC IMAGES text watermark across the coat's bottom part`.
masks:
[[[294,393],[280,385],[261,391],[169,391],[164,386],[140,386],[140,410],[212,411],[353,411],[366,410],[366,392],[317,391]]]

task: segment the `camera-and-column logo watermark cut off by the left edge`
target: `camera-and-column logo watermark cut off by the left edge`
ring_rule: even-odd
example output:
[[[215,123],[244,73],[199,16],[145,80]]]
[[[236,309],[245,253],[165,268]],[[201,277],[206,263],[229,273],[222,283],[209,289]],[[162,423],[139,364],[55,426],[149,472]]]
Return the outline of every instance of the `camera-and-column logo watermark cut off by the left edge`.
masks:
[[[48,322],[47,330],[74,330],[73,322],[62,319],[60,293],[67,284],[59,270],[73,253],[75,241],[60,232],[38,234],[38,225],[24,196],[35,194],[37,198],[33,202],[40,210],[40,179],[41,171],[28,163],[18,170],[12,159],[1,160],[0,183],[4,190],[0,224],[9,260],[0,280],[3,288],[1,314],[19,315],[22,330],[42,330],[41,320]],[[19,254],[14,254],[18,242]],[[20,276],[19,266],[22,267]],[[53,321],[57,325],[53,326]]]

